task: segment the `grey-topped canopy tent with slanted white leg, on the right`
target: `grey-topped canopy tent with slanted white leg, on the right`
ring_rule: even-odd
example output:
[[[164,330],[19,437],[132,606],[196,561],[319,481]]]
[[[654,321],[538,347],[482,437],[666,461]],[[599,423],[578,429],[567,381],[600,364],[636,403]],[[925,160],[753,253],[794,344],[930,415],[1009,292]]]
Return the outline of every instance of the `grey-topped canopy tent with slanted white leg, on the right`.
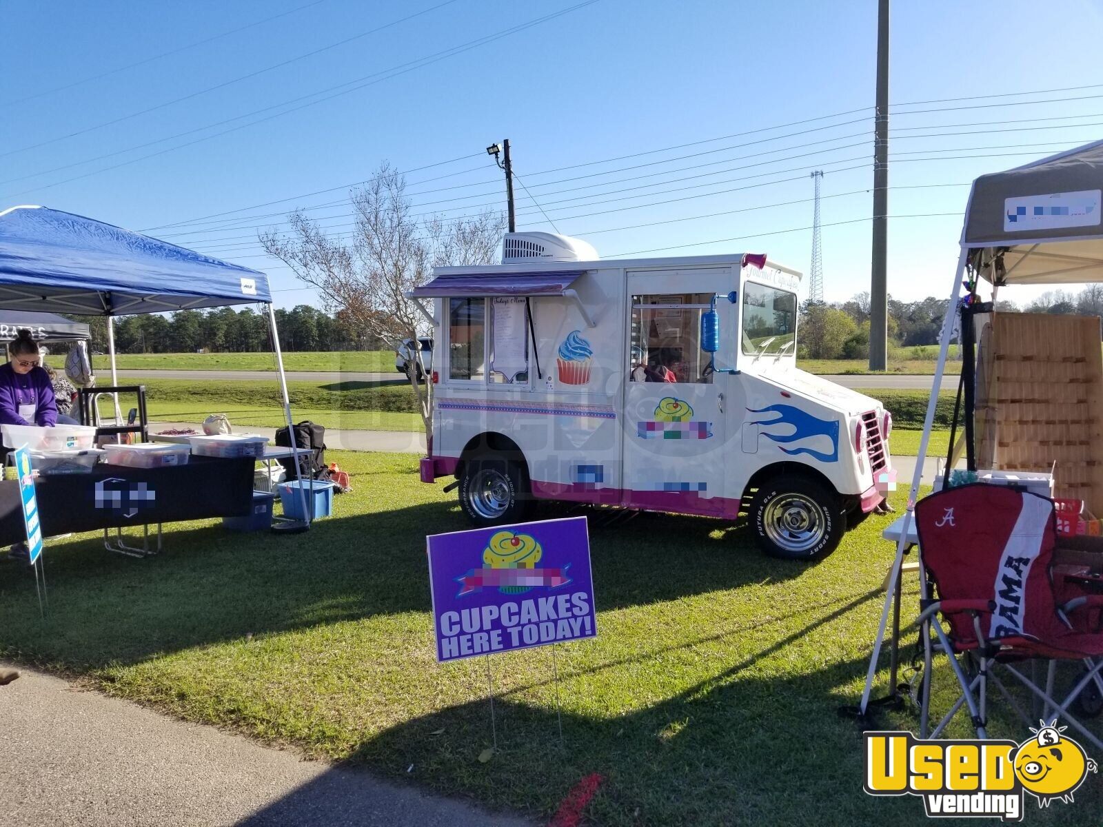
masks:
[[[915,501],[923,481],[923,461],[930,443],[939,388],[954,334],[955,316],[979,298],[981,281],[997,291],[1011,284],[1070,284],[1103,282],[1103,141],[1034,161],[1006,172],[982,175],[973,182],[962,227],[961,255],[954,273],[950,304],[943,320],[939,361],[927,406],[923,436],[915,458],[915,472],[901,519],[896,557],[889,572],[885,606],[866,673],[858,707],[867,715],[889,614],[899,589],[900,570],[909,545]],[[970,278],[966,280],[966,272]],[[962,293],[963,283],[966,293]],[[962,329],[965,329],[962,324]],[[966,361],[968,356],[966,355]],[[973,365],[963,365],[963,382],[972,382]],[[967,393],[972,393],[970,389]],[[967,408],[968,406],[966,406]],[[966,416],[972,414],[967,410]],[[952,450],[952,447],[951,447]],[[922,549],[919,550],[922,555]],[[927,600],[929,583],[919,567],[920,600]],[[899,604],[898,604],[899,609]],[[899,615],[897,615],[899,616]],[[932,644],[929,622],[921,627],[923,644],[923,692],[929,691]],[[893,638],[892,645],[897,645]],[[893,651],[893,663],[896,652]],[[895,694],[896,687],[889,687]],[[924,696],[925,697],[925,696]],[[920,738],[928,721],[920,720]]]

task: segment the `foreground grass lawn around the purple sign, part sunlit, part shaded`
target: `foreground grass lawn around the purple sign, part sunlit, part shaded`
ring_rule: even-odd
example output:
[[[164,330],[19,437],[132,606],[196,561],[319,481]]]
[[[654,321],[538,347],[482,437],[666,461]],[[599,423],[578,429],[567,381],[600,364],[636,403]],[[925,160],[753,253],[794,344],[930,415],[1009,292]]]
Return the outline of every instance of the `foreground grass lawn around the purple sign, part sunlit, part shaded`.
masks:
[[[0,654],[540,819],[597,772],[604,782],[587,816],[612,827],[928,824],[917,799],[861,792],[861,738],[836,715],[861,689],[889,517],[801,565],[763,557],[741,522],[643,514],[603,526],[607,513],[583,509],[599,631],[557,648],[563,741],[553,652],[497,655],[499,752],[482,763],[488,662],[433,658],[425,535],[467,527],[454,494],[418,482],[415,457],[332,459],[354,492],[306,536],[183,524],[147,560],[115,557],[97,536],[51,541],[45,621],[30,572],[0,561]],[[914,580],[906,588],[907,619]],[[941,681],[936,699],[952,700]],[[890,712],[884,723],[917,719]],[[992,729],[1028,734],[998,716]],[[1100,806],[1089,781],[1075,805],[1030,818],[1074,813],[1086,824]]]

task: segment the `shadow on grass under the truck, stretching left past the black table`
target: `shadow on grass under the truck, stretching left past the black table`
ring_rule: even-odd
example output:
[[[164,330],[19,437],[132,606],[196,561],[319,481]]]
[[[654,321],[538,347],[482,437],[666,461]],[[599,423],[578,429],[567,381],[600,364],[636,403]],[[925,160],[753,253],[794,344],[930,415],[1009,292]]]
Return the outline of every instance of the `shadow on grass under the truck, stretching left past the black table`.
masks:
[[[399,470],[409,471],[377,473],[394,480]],[[372,484],[368,474],[360,476],[365,485]],[[355,505],[339,497],[336,514]],[[559,513],[543,511],[537,516]],[[0,559],[0,654],[95,669],[246,635],[428,612],[424,538],[469,527],[454,505],[433,502],[334,516],[296,536],[182,524],[165,534],[163,554],[141,560],[106,551],[98,535],[54,541],[44,557],[52,606],[45,621],[30,569]],[[806,570],[768,560],[749,547],[746,534],[722,522],[672,515],[595,525],[599,609],[777,582]]]

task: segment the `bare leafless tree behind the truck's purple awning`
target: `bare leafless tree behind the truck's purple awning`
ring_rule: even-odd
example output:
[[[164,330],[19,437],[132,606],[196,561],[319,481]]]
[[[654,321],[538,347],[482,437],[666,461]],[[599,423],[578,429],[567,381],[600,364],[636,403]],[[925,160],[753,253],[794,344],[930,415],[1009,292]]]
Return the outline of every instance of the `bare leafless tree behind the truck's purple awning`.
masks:
[[[432,437],[432,383],[418,345],[431,325],[407,296],[425,283],[433,267],[493,262],[505,219],[488,210],[475,216],[418,221],[410,214],[406,180],[386,162],[350,198],[356,219],[350,239],[328,235],[296,212],[288,216],[290,232],[264,233],[260,244],[297,278],[318,288],[326,310],[389,342],[396,353],[403,340],[413,340],[407,351],[417,366],[407,361],[407,374],[426,437]]]

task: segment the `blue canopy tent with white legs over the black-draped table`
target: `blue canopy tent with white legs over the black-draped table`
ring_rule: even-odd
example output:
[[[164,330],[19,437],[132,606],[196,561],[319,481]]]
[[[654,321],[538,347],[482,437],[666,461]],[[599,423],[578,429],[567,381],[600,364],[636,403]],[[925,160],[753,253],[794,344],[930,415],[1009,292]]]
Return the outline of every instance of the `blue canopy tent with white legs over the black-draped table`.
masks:
[[[283,412],[293,432],[271,301],[268,277],[247,267],[58,210],[0,212],[0,309],[107,316],[113,384],[118,382],[114,316],[267,305]],[[297,447],[292,452],[298,466]]]

